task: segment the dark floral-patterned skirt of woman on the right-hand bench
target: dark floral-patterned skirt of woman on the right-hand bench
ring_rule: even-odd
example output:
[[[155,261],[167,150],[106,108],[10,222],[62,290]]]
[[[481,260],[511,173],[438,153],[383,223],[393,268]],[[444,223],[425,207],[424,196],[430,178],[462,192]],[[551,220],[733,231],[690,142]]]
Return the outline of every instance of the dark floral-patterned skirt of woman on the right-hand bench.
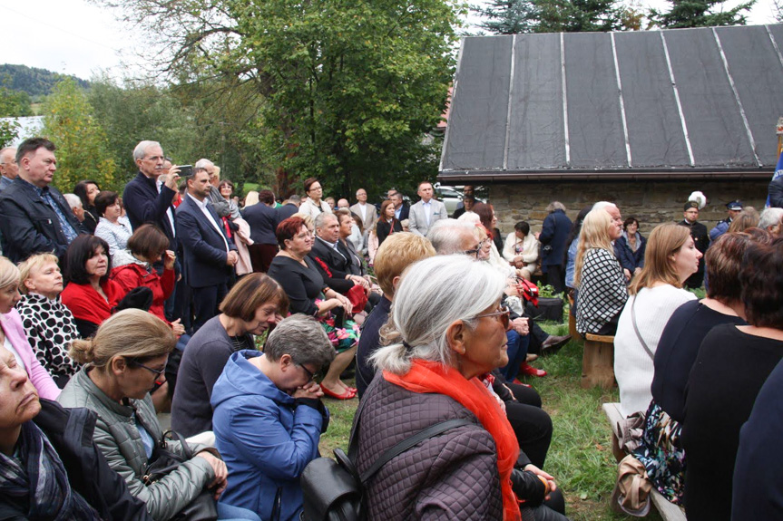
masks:
[[[652,484],[675,505],[682,505],[685,491],[685,450],[680,447],[681,430],[680,423],[672,420],[652,400],[644,419],[641,445],[633,451]]]

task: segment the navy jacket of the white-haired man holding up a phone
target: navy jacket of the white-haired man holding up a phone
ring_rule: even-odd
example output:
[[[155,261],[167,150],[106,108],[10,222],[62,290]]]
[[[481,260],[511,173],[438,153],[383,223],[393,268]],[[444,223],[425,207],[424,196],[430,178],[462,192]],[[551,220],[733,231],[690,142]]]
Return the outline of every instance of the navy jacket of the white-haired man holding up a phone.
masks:
[[[131,182],[125,185],[125,191],[122,192],[122,204],[134,230],[143,224],[153,224],[161,228],[163,233],[169,237],[169,249],[177,251],[177,239],[171,228],[169,216],[166,215],[166,210],[171,208],[171,213],[175,216],[174,226],[176,227],[177,217],[171,201],[177,192],[163,185],[159,194],[155,183],[155,179],[148,178],[139,172],[135,178],[131,179]]]

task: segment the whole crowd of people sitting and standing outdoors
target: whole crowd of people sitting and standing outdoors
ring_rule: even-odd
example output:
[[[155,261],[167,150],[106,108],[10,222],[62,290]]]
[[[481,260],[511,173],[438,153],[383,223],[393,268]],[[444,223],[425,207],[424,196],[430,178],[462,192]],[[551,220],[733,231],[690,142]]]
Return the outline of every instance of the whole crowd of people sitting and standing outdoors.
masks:
[[[613,203],[572,222],[553,201],[539,233],[502,236],[473,187],[453,217],[426,181],[410,207],[396,190],[336,202],[317,178],[303,198],[239,201],[209,159],[177,166],[145,140],[122,193],[86,179],[63,195],[55,151],[0,150],[0,518],[299,519],[328,398],[372,410],[359,472],[467,420],[380,469],[370,518],[566,519],[543,470],[552,420],[518,380],[571,340],[531,320],[536,277],[573,298],[579,333],[615,335],[622,411],[646,411],[635,455],[661,492],[694,519],[763,508],[734,456],[755,455],[740,445],[763,429],[740,428],[783,357],[783,210],[734,201],[710,237],[689,201],[645,238]],[[698,301],[683,288],[700,273]],[[753,354],[727,364],[737,349]],[[715,392],[729,379],[741,389]]]

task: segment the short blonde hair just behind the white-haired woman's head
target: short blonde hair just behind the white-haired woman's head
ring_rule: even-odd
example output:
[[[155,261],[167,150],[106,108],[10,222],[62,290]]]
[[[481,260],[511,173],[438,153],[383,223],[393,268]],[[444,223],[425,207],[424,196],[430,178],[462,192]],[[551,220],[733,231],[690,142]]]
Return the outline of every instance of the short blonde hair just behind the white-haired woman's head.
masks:
[[[395,294],[394,279],[416,261],[435,256],[435,248],[423,236],[392,234],[378,248],[375,258],[378,285],[389,300]]]

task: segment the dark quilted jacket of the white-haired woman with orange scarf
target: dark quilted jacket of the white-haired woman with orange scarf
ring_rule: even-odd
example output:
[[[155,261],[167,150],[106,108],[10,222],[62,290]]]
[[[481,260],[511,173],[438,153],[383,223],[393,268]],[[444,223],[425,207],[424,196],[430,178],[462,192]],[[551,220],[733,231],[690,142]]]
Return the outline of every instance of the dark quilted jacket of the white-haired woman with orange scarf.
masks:
[[[492,436],[443,394],[406,391],[377,378],[362,400],[357,467],[365,472],[396,443],[438,422],[469,419],[389,461],[367,489],[369,519],[496,520],[503,499]]]

